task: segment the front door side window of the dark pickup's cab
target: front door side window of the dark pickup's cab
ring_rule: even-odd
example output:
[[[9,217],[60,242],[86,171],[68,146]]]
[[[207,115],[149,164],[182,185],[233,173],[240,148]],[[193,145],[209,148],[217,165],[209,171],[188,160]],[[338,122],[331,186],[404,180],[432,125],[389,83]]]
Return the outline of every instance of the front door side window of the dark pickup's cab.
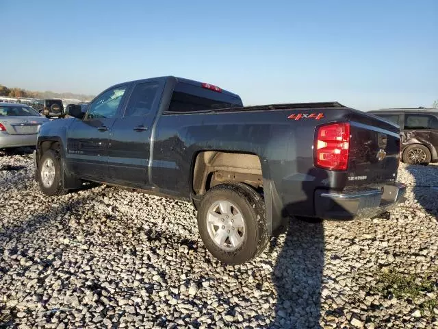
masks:
[[[120,101],[125,94],[126,86],[105,91],[88,108],[86,119],[105,119],[116,115]]]

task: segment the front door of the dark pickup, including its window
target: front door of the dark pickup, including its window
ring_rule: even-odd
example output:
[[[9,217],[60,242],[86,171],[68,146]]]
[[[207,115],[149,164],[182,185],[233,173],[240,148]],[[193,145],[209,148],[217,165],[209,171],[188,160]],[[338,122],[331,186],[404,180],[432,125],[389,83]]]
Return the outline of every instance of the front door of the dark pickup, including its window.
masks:
[[[82,120],[68,128],[66,161],[75,175],[105,182],[108,177],[110,130],[127,86],[105,90],[88,107]]]

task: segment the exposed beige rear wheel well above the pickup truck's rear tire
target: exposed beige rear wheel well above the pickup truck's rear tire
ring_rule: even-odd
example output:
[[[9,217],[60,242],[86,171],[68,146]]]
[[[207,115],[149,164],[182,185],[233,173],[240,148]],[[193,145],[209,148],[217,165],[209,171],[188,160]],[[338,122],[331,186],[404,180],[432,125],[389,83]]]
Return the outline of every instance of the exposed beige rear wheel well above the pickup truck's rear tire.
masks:
[[[261,163],[255,154],[202,151],[196,156],[192,175],[193,191],[204,194],[222,182],[242,182],[263,188]]]

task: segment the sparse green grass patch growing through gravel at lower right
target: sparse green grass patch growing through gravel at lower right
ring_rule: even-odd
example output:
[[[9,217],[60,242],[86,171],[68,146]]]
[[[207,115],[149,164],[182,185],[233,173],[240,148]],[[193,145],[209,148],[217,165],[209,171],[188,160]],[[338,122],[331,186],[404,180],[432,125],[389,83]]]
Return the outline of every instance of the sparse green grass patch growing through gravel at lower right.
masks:
[[[403,274],[394,269],[378,275],[376,290],[384,295],[392,294],[395,297],[411,297],[412,300],[430,293],[437,284],[433,278],[421,278],[415,274]]]

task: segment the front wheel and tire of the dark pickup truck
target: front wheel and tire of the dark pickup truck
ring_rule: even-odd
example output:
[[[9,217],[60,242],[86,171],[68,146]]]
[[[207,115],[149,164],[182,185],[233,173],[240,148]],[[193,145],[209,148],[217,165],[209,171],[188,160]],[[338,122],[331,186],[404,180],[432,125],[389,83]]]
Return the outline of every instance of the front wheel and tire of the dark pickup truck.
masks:
[[[38,165],[38,184],[45,195],[64,195],[68,192],[62,180],[62,164],[59,155],[53,149],[42,154]],[[51,184],[49,184],[51,183]]]

